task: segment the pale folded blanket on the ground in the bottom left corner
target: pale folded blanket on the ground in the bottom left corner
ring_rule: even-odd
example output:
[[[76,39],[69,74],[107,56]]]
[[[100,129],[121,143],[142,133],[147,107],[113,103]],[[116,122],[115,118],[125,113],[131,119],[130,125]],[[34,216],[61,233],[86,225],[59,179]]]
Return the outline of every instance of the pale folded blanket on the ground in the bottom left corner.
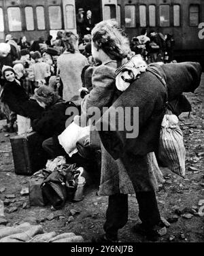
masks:
[[[14,227],[0,227],[0,242],[84,242],[82,236],[74,233],[44,233],[41,225],[22,223]]]

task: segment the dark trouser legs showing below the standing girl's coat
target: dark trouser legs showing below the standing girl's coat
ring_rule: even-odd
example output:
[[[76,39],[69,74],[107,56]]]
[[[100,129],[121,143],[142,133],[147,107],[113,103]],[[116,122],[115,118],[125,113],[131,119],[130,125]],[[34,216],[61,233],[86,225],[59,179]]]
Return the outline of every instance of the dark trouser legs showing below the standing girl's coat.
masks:
[[[160,221],[160,214],[154,191],[136,193],[139,204],[139,219],[144,226],[154,227]],[[128,221],[128,195],[109,195],[106,211],[106,221],[103,225],[107,238],[118,239],[118,229],[124,227]]]

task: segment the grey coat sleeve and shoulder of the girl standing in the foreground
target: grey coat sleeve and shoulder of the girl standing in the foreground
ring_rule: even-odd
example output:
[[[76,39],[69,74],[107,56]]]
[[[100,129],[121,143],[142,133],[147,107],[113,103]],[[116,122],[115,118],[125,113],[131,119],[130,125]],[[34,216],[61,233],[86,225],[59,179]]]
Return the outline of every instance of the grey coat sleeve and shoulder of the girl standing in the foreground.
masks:
[[[82,113],[88,108],[97,107],[103,110],[112,102],[115,91],[115,69],[105,65],[99,66],[92,74],[92,90],[82,100]]]

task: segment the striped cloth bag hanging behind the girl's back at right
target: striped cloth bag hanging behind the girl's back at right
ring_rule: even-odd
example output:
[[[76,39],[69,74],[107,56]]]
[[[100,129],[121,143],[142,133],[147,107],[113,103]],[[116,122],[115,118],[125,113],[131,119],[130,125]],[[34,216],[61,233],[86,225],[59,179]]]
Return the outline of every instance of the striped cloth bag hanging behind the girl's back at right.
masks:
[[[172,172],[185,178],[186,150],[183,133],[178,125],[169,127],[166,114],[160,129],[158,157]]]

